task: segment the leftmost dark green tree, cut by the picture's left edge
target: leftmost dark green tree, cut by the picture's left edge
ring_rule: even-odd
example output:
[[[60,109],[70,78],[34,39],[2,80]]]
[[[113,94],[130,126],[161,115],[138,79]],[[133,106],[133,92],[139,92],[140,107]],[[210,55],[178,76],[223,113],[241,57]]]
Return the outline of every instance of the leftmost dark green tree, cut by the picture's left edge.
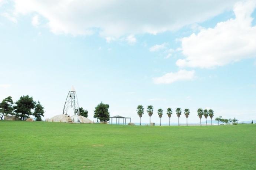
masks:
[[[1,103],[0,103],[0,118],[3,120],[4,115],[14,115],[13,113],[13,99],[11,96],[6,97]]]

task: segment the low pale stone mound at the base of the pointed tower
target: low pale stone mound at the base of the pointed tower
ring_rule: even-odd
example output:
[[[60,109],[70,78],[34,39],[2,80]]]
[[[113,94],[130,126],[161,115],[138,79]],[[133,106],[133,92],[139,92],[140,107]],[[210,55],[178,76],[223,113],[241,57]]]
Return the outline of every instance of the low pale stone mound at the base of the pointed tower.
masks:
[[[73,115],[69,116],[66,114],[59,114],[56,116],[53,116],[50,119],[47,119],[47,121],[52,121],[52,122],[63,122],[63,123],[93,123],[90,119],[87,117],[83,116],[78,116],[78,115]]]

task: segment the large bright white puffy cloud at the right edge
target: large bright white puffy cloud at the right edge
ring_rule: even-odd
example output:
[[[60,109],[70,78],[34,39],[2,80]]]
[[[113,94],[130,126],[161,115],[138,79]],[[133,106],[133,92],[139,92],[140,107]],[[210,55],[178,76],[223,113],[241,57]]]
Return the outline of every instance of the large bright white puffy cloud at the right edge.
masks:
[[[250,17],[255,7],[256,1],[237,3],[235,19],[181,39],[186,58],[179,59],[177,66],[210,68],[256,57],[256,26]]]

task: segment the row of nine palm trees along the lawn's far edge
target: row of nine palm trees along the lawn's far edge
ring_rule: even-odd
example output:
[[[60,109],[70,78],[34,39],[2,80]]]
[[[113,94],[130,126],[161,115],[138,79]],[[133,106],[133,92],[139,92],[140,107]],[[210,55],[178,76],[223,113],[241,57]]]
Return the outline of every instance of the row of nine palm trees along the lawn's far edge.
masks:
[[[147,106],[147,113],[148,113],[148,116],[150,117],[150,123],[151,123],[151,116],[153,114],[153,111],[154,111],[154,107],[152,105]],[[160,126],[161,126],[161,118],[163,116],[163,112],[164,112],[163,109],[158,109],[157,110],[157,115],[160,118]],[[178,117],[178,125],[180,126],[180,116],[182,115],[181,108],[180,107],[176,108],[175,109],[175,113],[176,113],[176,115]],[[137,114],[140,117],[140,125],[141,125],[141,117],[144,114],[144,107],[142,105],[138,105],[137,106]],[[170,119],[171,119],[171,115],[173,114],[173,110],[170,107],[168,107],[166,109],[166,114],[167,114],[167,116],[169,118],[169,126],[170,126],[171,125]],[[183,114],[185,115],[185,117],[187,119],[187,125],[188,125],[188,116],[190,114],[190,110],[189,109],[184,109],[184,113]],[[212,119],[213,119],[213,116],[214,116],[214,111],[212,109],[209,109],[209,110],[204,109],[203,110],[203,109],[199,108],[199,109],[197,109],[197,116],[200,119],[200,125],[202,125],[201,119],[202,119],[203,116],[206,119],[206,125],[207,126],[208,126],[208,124],[207,124],[207,118],[208,117],[211,118],[211,125],[213,125]]]

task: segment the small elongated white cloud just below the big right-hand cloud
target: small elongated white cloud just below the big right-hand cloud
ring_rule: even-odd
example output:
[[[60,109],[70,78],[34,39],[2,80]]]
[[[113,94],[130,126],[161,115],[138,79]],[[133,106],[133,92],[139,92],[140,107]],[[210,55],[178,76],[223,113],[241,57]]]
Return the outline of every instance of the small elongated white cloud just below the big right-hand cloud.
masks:
[[[153,81],[155,84],[170,84],[175,81],[192,80],[195,78],[195,71],[179,70],[176,73],[167,73],[162,77],[155,77]]]

